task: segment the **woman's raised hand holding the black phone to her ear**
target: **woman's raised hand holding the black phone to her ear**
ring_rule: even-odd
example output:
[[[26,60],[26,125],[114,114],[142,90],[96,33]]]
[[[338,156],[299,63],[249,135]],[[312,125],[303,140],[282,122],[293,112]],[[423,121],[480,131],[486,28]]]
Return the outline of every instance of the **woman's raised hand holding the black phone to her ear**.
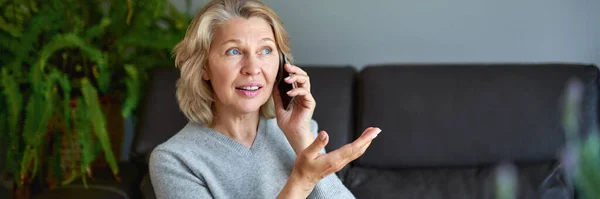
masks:
[[[310,131],[310,120],[315,110],[316,102],[310,93],[310,79],[308,74],[297,66],[285,64],[284,70],[290,73],[284,79],[285,83],[296,84],[287,95],[294,97],[289,110],[285,110],[279,95],[277,84],[273,88],[273,100],[275,101],[275,114],[277,124],[292,145],[296,154],[314,141],[314,135]]]

